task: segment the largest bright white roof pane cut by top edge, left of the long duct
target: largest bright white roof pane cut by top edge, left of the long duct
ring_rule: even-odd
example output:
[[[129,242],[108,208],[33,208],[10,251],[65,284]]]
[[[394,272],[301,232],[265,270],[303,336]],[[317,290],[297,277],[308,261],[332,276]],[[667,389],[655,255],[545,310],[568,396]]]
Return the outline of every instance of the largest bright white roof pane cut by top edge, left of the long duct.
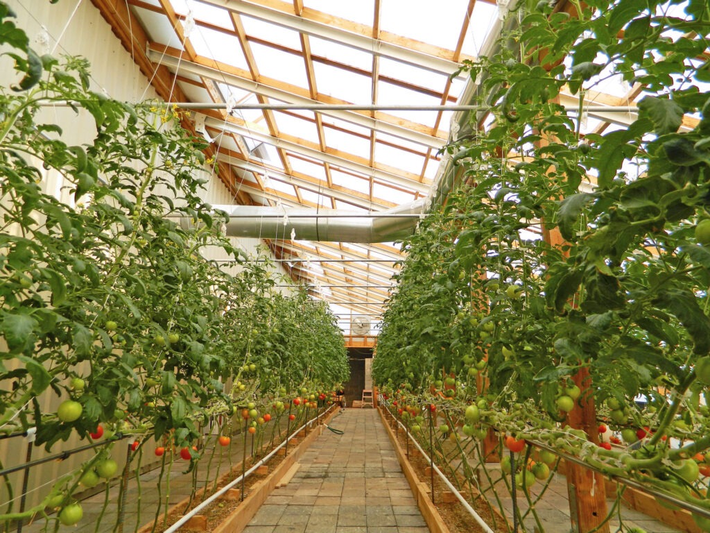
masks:
[[[454,26],[452,21],[464,20],[467,4],[467,0],[448,0],[446,9],[435,9],[431,0],[383,1],[380,6],[381,28],[398,36],[454,50],[460,23]]]

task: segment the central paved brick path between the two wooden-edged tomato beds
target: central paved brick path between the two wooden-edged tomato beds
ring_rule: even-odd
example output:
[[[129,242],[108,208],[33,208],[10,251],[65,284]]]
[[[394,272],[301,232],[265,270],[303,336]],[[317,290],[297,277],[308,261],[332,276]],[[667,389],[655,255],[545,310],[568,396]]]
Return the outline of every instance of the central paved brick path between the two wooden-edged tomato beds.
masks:
[[[244,533],[428,533],[375,409],[346,409]]]

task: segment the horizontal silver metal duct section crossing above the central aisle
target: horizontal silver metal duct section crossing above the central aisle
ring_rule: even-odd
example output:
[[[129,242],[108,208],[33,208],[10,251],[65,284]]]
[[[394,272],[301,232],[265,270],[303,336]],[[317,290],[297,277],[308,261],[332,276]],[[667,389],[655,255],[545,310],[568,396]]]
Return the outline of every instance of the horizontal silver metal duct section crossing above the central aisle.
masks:
[[[213,207],[229,215],[229,237],[367,243],[391,242],[412,235],[420,215],[424,215],[425,200],[371,213],[251,205]],[[187,220],[181,222],[185,224]]]

